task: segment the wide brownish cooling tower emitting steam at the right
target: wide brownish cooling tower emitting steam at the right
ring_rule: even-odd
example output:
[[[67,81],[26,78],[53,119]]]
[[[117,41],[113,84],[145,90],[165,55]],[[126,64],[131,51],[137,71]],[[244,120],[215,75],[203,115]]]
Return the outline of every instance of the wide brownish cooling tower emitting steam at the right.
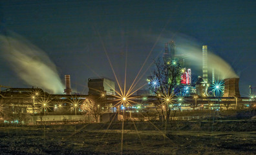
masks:
[[[223,97],[240,98],[239,92],[239,78],[224,79],[225,89]]]

